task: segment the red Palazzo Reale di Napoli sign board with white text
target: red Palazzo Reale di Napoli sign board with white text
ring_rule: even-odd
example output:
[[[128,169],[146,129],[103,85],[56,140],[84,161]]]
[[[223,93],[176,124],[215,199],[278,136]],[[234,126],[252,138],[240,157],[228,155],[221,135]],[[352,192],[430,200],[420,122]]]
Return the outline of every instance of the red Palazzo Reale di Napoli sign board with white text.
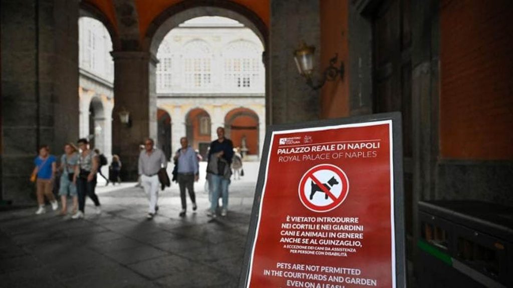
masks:
[[[388,119],[270,133],[244,286],[402,286],[392,127]]]

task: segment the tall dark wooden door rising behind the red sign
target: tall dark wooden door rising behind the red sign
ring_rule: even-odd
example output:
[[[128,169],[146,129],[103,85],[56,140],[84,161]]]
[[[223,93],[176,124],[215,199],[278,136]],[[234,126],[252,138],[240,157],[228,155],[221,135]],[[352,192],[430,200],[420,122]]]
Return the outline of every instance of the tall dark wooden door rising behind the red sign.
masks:
[[[405,225],[409,239],[413,234],[410,1],[383,1],[372,22],[374,113],[400,111],[403,117]]]

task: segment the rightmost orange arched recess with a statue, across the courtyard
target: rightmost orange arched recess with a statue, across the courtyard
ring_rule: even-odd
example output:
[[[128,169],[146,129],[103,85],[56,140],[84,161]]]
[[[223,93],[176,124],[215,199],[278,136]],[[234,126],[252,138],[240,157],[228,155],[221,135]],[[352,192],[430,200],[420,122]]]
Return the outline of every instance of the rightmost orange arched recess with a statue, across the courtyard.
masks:
[[[260,122],[258,114],[249,108],[235,108],[225,116],[226,136],[243,157],[260,153]]]

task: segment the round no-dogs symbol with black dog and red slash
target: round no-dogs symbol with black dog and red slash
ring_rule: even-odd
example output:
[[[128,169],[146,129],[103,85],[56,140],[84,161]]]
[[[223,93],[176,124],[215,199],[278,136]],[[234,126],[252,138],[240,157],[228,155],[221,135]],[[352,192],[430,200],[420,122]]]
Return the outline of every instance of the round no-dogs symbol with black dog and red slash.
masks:
[[[349,192],[346,173],[332,164],[310,168],[299,182],[299,199],[313,212],[328,212],[339,207]]]

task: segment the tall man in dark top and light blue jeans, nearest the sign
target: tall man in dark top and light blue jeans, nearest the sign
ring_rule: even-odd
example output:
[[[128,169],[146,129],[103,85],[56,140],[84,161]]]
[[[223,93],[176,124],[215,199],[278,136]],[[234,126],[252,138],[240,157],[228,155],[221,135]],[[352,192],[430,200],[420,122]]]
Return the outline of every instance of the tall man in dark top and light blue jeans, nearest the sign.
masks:
[[[207,215],[215,217],[219,205],[219,197],[223,197],[223,209],[221,216],[228,213],[228,186],[231,177],[231,159],[233,157],[233,143],[230,139],[225,138],[225,130],[218,127],[216,130],[218,139],[210,143],[208,151],[207,172],[210,173],[209,186],[212,189],[212,201],[210,202],[210,210]]]

